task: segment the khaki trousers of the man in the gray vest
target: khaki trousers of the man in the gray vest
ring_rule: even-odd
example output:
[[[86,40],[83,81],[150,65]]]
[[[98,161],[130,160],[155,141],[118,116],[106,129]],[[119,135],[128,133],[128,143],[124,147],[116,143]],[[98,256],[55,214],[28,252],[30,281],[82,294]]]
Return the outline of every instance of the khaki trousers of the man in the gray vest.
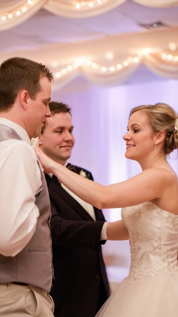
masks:
[[[48,292],[33,285],[0,284],[1,317],[54,317]]]

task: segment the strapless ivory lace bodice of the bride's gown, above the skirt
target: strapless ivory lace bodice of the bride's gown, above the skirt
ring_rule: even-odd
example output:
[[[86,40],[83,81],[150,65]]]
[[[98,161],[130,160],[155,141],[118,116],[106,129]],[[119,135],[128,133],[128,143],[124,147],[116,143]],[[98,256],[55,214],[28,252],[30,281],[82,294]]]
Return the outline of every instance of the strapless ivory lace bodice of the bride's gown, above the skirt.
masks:
[[[178,275],[178,215],[152,202],[122,208],[121,215],[129,230],[130,281],[145,276]]]

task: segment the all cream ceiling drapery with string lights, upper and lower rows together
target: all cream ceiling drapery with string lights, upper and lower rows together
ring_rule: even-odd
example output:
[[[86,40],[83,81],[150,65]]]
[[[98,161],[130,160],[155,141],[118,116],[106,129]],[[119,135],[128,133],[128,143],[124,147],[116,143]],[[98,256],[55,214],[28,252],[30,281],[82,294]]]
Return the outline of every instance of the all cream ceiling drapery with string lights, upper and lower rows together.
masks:
[[[16,30],[18,26],[23,29],[28,20],[33,19],[40,9],[59,16],[59,21],[60,17],[63,17],[73,22],[76,19],[84,21],[94,16],[105,16],[107,12],[111,10],[114,12],[126,2],[139,4],[138,10],[142,9],[142,6],[147,9],[175,6],[178,16],[178,0],[1,0],[0,36],[8,35],[11,29]],[[139,15],[139,12],[137,14]],[[158,18],[156,19],[155,16],[156,21]],[[105,24],[107,25],[107,21]],[[110,24],[108,23],[108,28]],[[49,30],[50,27],[49,24]],[[35,32],[33,34],[35,37]],[[37,45],[35,49],[20,50],[10,48],[4,50],[1,44],[0,61],[11,56],[22,56],[46,63],[54,74],[56,88],[64,86],[79,74],[99,85],[118,85],[124,82],[140,64],[159,76],[178,79],[178,21],[177,25],[173,23],[171,26],[169,24],[168,27],[163,26],[159,29],[144,31],[139,29],[139,32],[118,34],[113,32],[109,36],[101,34],[90,41],[87,39],[73,42],[63,39],[60,42],[49,42]]]

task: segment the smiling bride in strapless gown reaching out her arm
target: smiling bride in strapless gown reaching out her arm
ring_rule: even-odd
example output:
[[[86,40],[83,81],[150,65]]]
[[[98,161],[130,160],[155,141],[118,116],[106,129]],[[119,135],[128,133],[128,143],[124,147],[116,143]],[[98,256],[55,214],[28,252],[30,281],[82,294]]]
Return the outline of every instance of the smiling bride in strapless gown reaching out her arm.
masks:
[[[178,116],[167,104],[131,110],[125,157],[142,172],[103,186],[36,155],[46,173],[86,202],[100,208],[122,207],[122,220],[108,223],[108,240],[130,240],[128,277],[111,294],[97,317],[178,317],[178,181],[166,159],[178,147]]]

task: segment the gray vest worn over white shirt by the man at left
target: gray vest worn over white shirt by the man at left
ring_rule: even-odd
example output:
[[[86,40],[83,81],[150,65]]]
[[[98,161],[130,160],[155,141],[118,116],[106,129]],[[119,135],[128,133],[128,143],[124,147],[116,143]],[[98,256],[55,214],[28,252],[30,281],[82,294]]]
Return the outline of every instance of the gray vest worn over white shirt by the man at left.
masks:
[[[7,139],[21,138],[13,129],[0,124],[0,141]],[[25,248],[16,256],[0,254],[0,283],[24,282],[44,288],[49,292],[53,276],[49,228],[50,201],[43,172],[41,172],[41,180],[42,186],[35,196],[35,205],[40,212],[35,233]]]

